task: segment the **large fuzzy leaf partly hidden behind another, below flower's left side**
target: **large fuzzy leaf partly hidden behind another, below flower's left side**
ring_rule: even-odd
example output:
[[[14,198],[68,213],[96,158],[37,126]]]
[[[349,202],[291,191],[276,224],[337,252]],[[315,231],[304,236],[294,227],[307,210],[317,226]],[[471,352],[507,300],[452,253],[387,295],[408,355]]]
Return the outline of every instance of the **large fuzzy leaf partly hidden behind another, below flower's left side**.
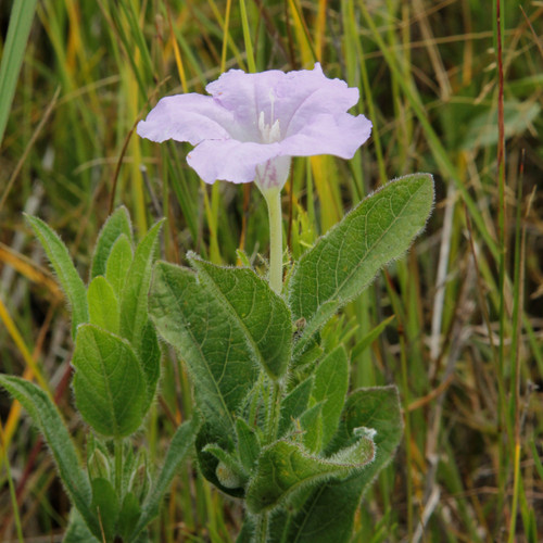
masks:
[[[233,435],[233,414],[258,376],[243,332],[192,270],[164,262],[154,269],[149,312],[185,358],[205,418]]]

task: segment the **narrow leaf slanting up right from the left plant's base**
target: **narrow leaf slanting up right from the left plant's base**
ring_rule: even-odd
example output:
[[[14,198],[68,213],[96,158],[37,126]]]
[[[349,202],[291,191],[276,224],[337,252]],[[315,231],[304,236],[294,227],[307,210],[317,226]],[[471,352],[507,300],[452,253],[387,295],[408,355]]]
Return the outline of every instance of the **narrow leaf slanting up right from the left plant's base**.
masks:
[[[200,426],[198,417],[185,421],[177,428],[172,442],[169,443],[166,458],[159,477],[155,479],[154,484],[149,492],[143,505],[141,507],[141,516],[138,523],[135,526],[129,541],[134,540],[146,526],[159,515],[159,506],[164,494],[168,491],[169,485],[179,466],[185,460],[187,453],[194,444],[194,438]]]

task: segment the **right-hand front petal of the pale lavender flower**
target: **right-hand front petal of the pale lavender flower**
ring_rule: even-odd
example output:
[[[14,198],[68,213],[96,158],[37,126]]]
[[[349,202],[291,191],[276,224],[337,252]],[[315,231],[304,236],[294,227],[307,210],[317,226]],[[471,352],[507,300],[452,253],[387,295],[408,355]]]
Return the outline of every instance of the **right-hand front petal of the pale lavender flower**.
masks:
[[[352,159],[370,134],[371,123],[364,115],[318,115],[279,144],[286,155],[333,154]]]

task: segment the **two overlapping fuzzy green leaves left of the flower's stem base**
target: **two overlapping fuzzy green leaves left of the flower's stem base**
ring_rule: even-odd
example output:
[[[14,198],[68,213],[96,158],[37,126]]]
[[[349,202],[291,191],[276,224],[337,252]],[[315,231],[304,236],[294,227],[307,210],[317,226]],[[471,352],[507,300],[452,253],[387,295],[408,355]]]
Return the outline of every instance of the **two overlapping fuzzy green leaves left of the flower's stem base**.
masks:
[[[283,300],[248,268],[223,268],[190,254],[194,270],[159,262],[149,311],[186,361],[207,422],[235,434],[236,414],[262,370],[280,379],[292,325]]]

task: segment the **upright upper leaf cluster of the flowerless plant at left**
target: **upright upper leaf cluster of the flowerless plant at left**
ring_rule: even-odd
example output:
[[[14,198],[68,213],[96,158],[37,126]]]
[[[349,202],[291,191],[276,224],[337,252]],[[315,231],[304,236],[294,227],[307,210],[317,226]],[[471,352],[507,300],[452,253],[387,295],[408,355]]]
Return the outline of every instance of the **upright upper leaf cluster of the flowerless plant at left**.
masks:
[[[27,219],[72,307],[77,408],[102,435],[129,435],[141,425],[160,376],[147,295],[161,223],[134,251],[128,212],[119,207],[111,215],[98,238],[86,289],[59,236],[41,219]]]

